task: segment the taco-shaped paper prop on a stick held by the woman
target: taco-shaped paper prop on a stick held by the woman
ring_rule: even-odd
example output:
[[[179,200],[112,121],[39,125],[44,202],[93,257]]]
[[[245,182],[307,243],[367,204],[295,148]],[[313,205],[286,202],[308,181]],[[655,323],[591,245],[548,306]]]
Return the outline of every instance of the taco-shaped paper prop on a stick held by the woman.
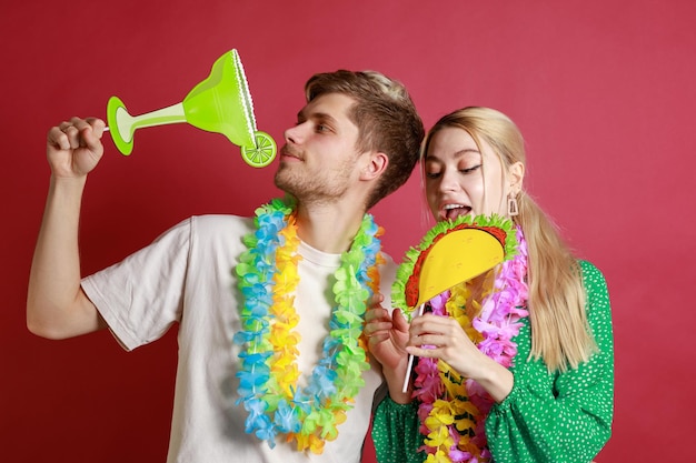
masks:
[[[511,222],[499,217],[469,215],[454,222],[440,222],[424,238],[418,249],[409,250],[399,266],[391,302],[397,308],[418,308],[450,288],[495,268],[514,254],[516,246]],[[409,354],[402,392],[414,366]]]

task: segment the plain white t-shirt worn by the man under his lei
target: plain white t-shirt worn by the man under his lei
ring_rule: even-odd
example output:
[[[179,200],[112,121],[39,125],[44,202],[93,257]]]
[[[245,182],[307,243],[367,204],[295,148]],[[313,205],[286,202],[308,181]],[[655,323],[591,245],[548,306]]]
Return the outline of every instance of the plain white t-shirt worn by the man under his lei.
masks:
[[[365,387],[356,396],[338,439],[324,453],[296,451],[278,436],[275,449],[245,433],[247,412],[236,405],[236,373],[240,346],[232,343],[240,329],[237,278],[241,238],[253,230],[250,218],[190,218],[149,246],[86,278],[82,288],[110,330],[127,350],[159,339],[179,323],[179,361],[168,462],[359,462],[370,420],[372,394],[381,383],[378,363],[364,373]],[[301,243],[295,308],[301,334],[298,364],[302,379],[311,374],[328,334],[334,294],[332,274],[339,254],[326,254]],[[390,306],[396,265],[387,255],[380,268],[381,293]],[[331,302],[329,302],[331,301]]]

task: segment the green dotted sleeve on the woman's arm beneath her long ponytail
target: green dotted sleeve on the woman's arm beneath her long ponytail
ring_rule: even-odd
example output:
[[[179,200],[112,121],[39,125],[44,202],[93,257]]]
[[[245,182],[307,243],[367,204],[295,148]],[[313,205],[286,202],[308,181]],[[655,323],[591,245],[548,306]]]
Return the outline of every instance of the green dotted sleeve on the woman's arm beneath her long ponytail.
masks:
[[[495,404],[486,435],[497,463],[587,463],[612,433],[614,340],[606,282],[599,270],[580,262],[587,316],[599,348],[576,370],[549,373],[540,361],[525,361],[530,349],[528,320],[515,338],[515,385]]]

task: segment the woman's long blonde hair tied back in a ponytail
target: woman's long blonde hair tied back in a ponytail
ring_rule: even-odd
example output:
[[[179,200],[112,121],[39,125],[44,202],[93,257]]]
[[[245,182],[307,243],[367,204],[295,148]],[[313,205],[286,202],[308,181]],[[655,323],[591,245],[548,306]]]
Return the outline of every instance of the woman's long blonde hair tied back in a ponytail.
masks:
[[[525,164],[525,142],[517,125],[501,112],[480,107],[443,117],[426,135],[421,157],[426,155],[432,135],[447,127],[468,132],[479,150],[483,141],[490,145],[504,172],[517,162]],[[530,358],[541,359],[550,371],[575,369],[597,350],[585,313],[579,263],[558,228],[524,190],[517,200],[519,214],[513,221],[521,227],[529,249]]]

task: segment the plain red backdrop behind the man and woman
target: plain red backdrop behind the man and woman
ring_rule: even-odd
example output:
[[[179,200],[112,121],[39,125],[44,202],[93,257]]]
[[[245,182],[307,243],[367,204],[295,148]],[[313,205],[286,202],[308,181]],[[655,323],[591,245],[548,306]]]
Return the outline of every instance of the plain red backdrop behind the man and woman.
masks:
[[[54,342],[26,330],[49,179],[44,137],[73,114],[105,117],[112,94],[133,114],[179,102],[231,48],[259,129],[278,141],[306,79],[339,68],[401,80],[427,127],[470,104],[517,121],[530,193],[609,284],[616,415],[597,461],[694,455],[696,3],[73,0],[3,2],[0,12],[3,461],[165,460],[176,329],[130,354],[108,332]],[[125,158],[106,135],[88,182],[84,272],[186,217],[249,214],[278,193],[275,164],[248,168],[222,135],[179,124],[135,140]],[[428,227],[418,178],[374,213],[400,260]]]

